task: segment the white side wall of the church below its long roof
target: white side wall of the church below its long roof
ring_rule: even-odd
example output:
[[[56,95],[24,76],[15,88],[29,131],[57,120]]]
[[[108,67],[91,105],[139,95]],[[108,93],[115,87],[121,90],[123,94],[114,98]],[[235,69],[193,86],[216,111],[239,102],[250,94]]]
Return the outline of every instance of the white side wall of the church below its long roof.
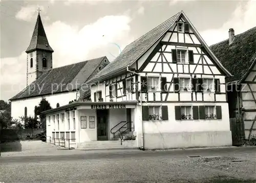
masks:
[[[76,98],[76,91],[45,95],[44,97],[49,101],[52,108],[56,108],[57,103],[59,103],[59,106],[61,107],[69,104],[69,101],[74,100]],[[42,96],[38,96],[12,101],[11,116],[14,119],[19,119],[20,116],[24,116],[25,107],[27,107],[27,116],[34,116],[35,106],[38,106],[41,99]]]

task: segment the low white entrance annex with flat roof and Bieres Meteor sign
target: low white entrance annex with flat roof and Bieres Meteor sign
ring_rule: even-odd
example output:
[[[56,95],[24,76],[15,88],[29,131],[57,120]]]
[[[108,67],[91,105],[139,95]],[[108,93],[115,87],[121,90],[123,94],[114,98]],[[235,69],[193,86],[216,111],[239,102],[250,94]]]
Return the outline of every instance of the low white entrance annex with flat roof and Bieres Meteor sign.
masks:
[[[61,142],[70,140],[74,148],[84,148],[85,144],[93,148],[137,147],[135,139],[130,145],[125,145],[127,141],[120,144],[120,137],[123,142],[135,135],[136,104],[137,101],[74,102],[48,110],[47,136]]]

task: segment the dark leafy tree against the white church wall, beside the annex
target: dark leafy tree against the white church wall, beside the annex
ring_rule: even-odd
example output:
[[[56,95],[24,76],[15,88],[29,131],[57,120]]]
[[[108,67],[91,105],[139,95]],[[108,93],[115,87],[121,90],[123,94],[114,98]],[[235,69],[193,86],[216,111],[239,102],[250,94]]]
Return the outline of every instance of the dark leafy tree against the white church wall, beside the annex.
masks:
[[[46,98],[42,98],[39,105],[35,109],[36,110],[35,114],[39,115],[39,117],[40,117],[40,122],[41,122],[42,128],[46,128],[46,115],[42,114],[42,112],[44,112],[46,110],[50,110],[50,109],[52,109],[51,104],[48,102],[48,100],[46,100]]]

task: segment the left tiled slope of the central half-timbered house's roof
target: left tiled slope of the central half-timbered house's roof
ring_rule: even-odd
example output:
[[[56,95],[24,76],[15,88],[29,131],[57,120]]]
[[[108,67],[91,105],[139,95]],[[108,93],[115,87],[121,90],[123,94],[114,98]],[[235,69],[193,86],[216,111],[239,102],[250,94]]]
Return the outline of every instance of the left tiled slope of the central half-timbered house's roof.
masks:
[[[94,75],[89,82],[94,82],[99,77],[112,75],[117,71],[126,69],[128,65],[131,65],[136,61],[142,54],[145,53],[163,34],[172,26],[180,12],[171,18],[167,19],[156,28],[146,33],[142,37],[138,38],[134,42],[127,45],[121,52],[121,54],[102,69],[98,74]]]

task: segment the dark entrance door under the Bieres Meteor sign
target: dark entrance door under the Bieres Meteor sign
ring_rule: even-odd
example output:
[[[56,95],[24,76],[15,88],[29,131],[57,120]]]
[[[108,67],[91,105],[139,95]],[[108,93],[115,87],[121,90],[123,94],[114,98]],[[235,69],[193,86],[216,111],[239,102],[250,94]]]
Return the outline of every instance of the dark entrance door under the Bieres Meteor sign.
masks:
[[[98,140],[108,140],[108,110],[97,110]]]

